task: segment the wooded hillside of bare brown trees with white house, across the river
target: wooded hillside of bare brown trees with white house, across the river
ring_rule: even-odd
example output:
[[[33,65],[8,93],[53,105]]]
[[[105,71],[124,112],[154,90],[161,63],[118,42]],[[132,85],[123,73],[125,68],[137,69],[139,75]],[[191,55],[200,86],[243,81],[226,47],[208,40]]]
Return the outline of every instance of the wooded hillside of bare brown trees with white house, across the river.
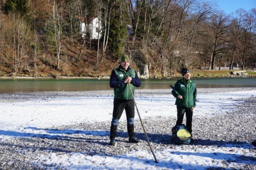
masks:
[[[141,77],[255,68],[256,9],[217,9],[211,0],[2,0],[0,76],[108,76],[122,53]]]

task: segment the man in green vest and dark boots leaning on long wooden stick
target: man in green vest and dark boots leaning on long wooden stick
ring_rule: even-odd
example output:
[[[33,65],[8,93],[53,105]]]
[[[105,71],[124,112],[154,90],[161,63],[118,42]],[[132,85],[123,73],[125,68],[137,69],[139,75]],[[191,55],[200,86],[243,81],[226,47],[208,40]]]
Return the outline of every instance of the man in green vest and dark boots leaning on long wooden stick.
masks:
[[[127,118],[127,131],[129,134],[129,142],[138,143],[138,139],[134,136],[134,86],[139,87],[141,84],[137,72],[130,67],[130,59],[127,55],[121,56],[121,64],[112,70],[110,76],[110,87],[114,88],[114,108],[113,117],[110,127],[110,143],[115,145],[116,130],[119,119],[125,109]],[[132,89],[132,93],[130,91]]]

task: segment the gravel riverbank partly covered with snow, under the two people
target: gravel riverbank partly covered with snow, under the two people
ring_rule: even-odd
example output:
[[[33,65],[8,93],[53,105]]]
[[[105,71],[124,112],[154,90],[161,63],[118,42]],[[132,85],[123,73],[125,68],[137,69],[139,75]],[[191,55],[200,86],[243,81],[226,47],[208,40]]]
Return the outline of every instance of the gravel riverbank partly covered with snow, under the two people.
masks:
[[[250,144],[256,140],[255,88],[198,89],[192,145],[170,143],[176,121],[170,90],[136,90],[158,163],[137,115],[140,142],[128,143],[123,115],[117,144],[108,146],[112,90],[2,93],[0,98],[0,169],[256,168]]]

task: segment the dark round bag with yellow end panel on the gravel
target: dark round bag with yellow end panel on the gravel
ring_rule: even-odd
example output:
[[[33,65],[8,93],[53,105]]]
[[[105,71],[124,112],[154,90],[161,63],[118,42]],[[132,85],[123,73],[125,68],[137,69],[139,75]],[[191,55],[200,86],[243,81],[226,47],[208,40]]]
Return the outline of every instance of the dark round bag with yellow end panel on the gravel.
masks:
[[[175,125],[171,129],[172,141],[175,144],[189,144],[191,141],[191,134],[184,124]]]

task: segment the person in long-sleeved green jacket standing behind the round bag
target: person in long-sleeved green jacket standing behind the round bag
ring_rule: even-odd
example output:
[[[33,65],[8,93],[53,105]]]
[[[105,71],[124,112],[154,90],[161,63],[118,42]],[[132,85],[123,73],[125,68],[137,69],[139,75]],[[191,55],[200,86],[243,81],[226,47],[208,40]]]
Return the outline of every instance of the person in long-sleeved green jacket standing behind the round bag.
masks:
[[[186,127],[192,134],[192,115],[196,105],[196,85],[190,79],[190,70],[182,68],[182,79],[177,80],[174,88],[178,93],[172,90],[172,95],[176,98],[177,105],[177,124],[182,124],[184,113],[186,113]]]

